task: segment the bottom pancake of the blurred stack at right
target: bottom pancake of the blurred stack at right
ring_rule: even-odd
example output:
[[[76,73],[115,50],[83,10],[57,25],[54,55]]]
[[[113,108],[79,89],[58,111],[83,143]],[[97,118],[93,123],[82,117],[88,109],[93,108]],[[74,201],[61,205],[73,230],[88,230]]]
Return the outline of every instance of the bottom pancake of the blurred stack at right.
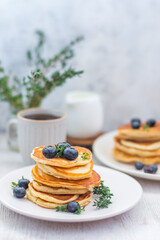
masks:
[[[139,156],[133,156],[129,155],[127,153],[124,153],[116,148],[113,149],[113,156],[116,160],[123,162],[123,163],[136,163],[136,162],[142,162],[145,165],[150,164],[156,164],[160,162],[160,157],[139,157]]]

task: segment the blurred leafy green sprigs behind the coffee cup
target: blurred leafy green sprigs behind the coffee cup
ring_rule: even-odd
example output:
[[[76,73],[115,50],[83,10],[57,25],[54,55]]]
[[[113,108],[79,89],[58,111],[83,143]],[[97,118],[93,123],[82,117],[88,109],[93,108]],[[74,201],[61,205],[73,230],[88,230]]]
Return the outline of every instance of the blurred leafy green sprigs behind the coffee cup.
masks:
[[[62,86],[67,79],[80,76],[83,71],[76,71],[68,66],[74,57],[73,47],[83,37],[71,41],[58,54],[44,59],[42,50],[45,44],[45,35],[36,31],[38,42],[33,50],[28,50],[26,57],[31,69],[29,76],[20,79],[18,76],[9,76],[0,64],[0,100],[7,101],[13,113],[21,109],[38,107],[42,100],[55,89]]]

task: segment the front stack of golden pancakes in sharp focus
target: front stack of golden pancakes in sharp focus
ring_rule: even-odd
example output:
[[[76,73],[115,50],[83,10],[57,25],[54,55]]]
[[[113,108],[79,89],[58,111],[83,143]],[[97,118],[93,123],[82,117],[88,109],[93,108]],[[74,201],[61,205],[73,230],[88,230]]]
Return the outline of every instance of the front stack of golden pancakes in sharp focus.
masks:
[[[77,201],[81,207],[92,200],[91,190],[100,184],[100,176],[93,170],[92,154],[86,148],[74,147],[78,157],[48,159],[42,153],[45,146],[33,149],[32,159],[37,163],[32,169],[33,182],[26,191],[27,198],[45,208],[65,206]],[[87,159],[83,154],[87,153]]]

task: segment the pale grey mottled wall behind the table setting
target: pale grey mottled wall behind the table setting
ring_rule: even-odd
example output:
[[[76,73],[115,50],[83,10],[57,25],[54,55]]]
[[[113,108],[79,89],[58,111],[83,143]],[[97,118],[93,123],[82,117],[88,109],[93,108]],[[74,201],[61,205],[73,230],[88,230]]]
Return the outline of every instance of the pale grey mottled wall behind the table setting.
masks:
[[[35,29],[47,35],[46,56],[85,36],[72,63],[85,74],[57,88],[43,106],[61,107],[67,91],[87,89],[102,96],[105,130],[133,116],[160,119],[159,0],[0,1],[0,59],[20,76]],[[0,104],[0,115],[5,111]],[[4,122],[1,117],[1,128]]]

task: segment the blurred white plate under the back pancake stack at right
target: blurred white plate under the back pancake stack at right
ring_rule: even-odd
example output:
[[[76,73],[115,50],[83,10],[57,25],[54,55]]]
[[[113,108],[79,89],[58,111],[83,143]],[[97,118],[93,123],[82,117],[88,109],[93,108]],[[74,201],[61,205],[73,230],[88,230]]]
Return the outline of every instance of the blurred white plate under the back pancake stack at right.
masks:
[[[144,173],[143,170],[137,170],[134,164],[125,164],[118,162],[114,159],[112,151],[114,147],[113,138],[117,134],[117,131],[112,131],[106,133],[99,138],[93,144],[93,152],[95,156],[102,162],[104,165],[119,170],[121,172],[128,173],[135,177],[151,179],[151,180],[160,180],[160,165],[159,170],[156,174]]]

